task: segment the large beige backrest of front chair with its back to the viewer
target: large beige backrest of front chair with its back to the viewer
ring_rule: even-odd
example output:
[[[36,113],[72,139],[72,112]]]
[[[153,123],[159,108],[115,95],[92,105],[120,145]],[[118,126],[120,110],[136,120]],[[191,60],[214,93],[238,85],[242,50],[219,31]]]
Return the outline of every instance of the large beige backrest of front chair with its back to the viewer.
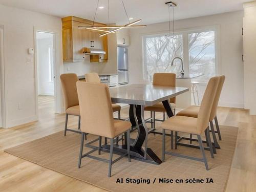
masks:
[[[115,134],[109,88],[106,84],[77,82],[81,131],[113,138]]]

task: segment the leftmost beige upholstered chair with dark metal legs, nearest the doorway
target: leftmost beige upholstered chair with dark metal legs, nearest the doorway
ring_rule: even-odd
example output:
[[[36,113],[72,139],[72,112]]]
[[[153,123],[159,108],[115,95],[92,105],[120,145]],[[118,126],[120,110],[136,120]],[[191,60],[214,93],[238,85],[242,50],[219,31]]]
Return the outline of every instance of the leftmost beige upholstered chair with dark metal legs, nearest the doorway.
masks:
[[[80,133],[75,130],[67,129],[69,115],[78,116],[78,130],[80,129],[80,110],[76,90],[76,82],[78,81],[78,77],[74,73],[62,74],[60,75],[60,80],[62,84],[62,91],[66,107],[66,122],[64,136],[66,136],[67,131]]]

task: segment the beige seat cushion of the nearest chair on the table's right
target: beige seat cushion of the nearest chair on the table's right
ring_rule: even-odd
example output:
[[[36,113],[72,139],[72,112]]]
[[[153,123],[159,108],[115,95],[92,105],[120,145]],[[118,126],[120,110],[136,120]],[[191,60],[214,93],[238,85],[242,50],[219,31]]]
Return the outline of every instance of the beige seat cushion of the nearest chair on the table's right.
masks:
[[[194,117],[173,116],[165,120],[161,127],[170,131],[201,134],[201,131],[197,130],[197,118]]]

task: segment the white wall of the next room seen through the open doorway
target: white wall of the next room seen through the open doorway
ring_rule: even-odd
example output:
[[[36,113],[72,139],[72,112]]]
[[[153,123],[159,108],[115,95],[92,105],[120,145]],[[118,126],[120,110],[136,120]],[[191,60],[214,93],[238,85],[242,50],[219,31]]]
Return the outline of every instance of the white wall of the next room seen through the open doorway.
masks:
[[[37,39],[37,93],[54,95],[54,84],[50,81],[49,48],[53,49],[53,34],[50,38]],[[53,58],[51,58],[53,62]]]

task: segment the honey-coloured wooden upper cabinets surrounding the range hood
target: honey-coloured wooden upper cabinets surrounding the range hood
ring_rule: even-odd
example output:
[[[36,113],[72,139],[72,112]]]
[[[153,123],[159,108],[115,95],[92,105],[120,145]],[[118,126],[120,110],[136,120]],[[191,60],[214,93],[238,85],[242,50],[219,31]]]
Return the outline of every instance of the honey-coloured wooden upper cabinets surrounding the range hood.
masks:
[[[80,62],[89,59],[91,62],[106,62],[108,60],[108,36],[99,36],[99,32],[89,29],[78,29],[78,26],[92,26],[91,20],[74,16],[62,18],[62,48],[63,60]],[[95,26],[104,24],[94,23]],[[85,55],[83,48],[103,49],[105,55]]]

